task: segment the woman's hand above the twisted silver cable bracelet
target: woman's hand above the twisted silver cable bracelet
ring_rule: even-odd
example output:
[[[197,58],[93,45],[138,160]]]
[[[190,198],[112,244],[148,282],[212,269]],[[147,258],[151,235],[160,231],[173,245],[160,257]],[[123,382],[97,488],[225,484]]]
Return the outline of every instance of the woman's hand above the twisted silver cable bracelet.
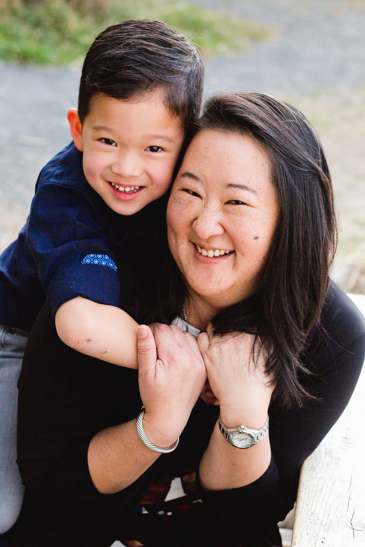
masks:
[[[175,325],[138,328],[138,382],[146,409],[143,428],[157,446],[170,446],[186,426],[206,381],[194,336]]]

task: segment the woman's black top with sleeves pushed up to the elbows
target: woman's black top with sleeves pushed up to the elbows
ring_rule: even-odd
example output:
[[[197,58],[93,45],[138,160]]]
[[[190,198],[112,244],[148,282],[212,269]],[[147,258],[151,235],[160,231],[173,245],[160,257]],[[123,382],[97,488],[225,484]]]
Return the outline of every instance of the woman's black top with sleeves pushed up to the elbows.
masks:
[[[265,529],[293,507],[300,467],[354,390],[365,356],[364,319],[334,284],[321,318],[322,328],[313,331],[303,355],[303,363],[314,374],[302,378],[305,389],[318,400],[306,400],[303,408],[287,411],[271,405],[268,470],[242,488],[201,493],[202,526],[211,530],[221,523],[225,540],[218,542],[220,547],[246,547],[250,529],[259,538],[257,546],[273,545]],[[90,440],[101,429],[137,416],[141,408],[137,376],[135,370],[64,345],[44,306],[19,380],[18,463],[26,489],[19,519],[6,536],[10,545],[109,547],[114,540],[123,540],[123,526],[151,481],[198,467],[218,413],[216,406],[201,399],[174,452],[161,456],[123,491],[96,490],[87,464]],[[207,540],[207,545],[212,544]]]

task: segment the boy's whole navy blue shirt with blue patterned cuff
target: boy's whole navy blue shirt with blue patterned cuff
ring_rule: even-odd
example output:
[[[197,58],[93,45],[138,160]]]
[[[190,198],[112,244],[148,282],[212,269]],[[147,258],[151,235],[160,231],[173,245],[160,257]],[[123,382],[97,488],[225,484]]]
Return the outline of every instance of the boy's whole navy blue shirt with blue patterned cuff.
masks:
[[[82,158],[71,143],[39,174],[27,223],[0,257],[2,325],[30,331],[46,299],[53,317],[76,296],[119,306],[114,252],[155,206],[115,213],[86,181]]]

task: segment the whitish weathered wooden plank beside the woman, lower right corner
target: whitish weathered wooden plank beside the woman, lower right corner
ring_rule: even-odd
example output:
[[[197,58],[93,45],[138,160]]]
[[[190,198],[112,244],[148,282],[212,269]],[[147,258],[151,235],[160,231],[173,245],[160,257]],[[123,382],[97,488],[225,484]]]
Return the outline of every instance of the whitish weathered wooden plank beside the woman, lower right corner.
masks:
[[[349,295],[365,315],[365,296]],[[292,547],[365,546],[365,370],[300,474]]]

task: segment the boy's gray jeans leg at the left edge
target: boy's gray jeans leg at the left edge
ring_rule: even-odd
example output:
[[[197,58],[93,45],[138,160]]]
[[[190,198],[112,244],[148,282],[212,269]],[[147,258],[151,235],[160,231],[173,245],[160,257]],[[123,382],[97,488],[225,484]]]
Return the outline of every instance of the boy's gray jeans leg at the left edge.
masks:
[[[0,534],[18,518],[24,494],[16,464],[16,384],[26,343],[26,333],[0,325]]]

